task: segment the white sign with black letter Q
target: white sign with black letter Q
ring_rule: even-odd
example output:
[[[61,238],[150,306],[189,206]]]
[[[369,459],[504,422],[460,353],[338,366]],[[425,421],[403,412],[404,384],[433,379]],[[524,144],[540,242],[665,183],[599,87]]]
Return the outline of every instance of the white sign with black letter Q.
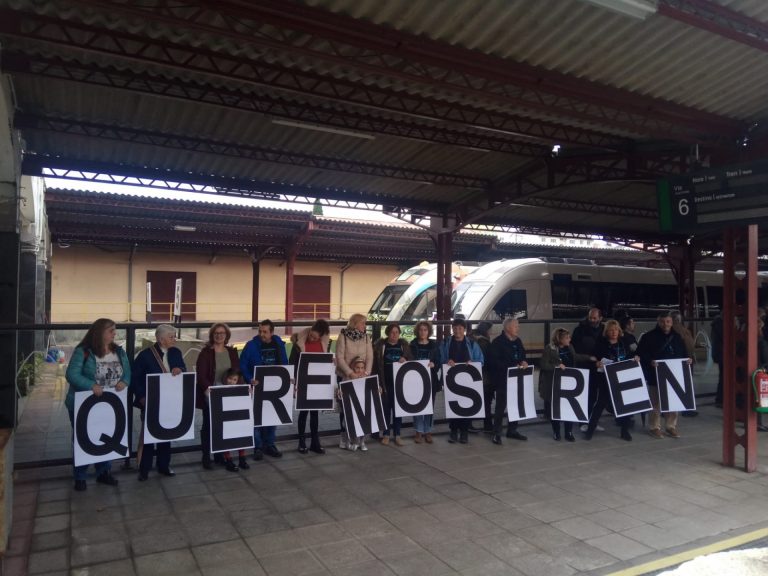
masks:
[[[128,455],[128,389],[75,392],[75,466],[107,462]]]

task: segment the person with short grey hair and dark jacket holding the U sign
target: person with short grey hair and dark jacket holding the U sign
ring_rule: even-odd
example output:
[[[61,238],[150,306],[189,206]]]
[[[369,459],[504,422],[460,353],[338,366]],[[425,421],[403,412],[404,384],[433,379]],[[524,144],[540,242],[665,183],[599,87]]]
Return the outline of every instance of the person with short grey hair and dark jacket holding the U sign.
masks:
[[[184,357],[181,350],[176,348],[176,328],[170,324],[160,324],[155,329],[156,342],[149,348],[145,348],[133,361],[133,377],[131,378],[131,391],[133,392],[133,405],[141,409],[141,421],[144,422],[144,404],[147,399],[147,375],[170,372],[178,376],[187,371],[184,365]],[[157,453],[157,471],[163,476],[176,476],[171,469],[171,443],[158,442],[157,444],[143,444],[139,442],[139,481],[149,478],[152,462]],[[143,448],[141,447],[143,444]]]

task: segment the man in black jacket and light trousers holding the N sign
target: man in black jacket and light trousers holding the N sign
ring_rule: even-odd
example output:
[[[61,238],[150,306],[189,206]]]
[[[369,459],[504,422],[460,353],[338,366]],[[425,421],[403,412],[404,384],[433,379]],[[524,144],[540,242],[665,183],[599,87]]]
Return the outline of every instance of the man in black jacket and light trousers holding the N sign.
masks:
[[[685,342],[680,335],[672,330],[672,315],[669,312],[659,314],[656,328],[643,334],[640,343],[637,346],[637,355],[640,356],[640,364],[643,367],[645,381],[650,387],[648,392],[651,396],[653,412],[648,419],[648,433],[657,439],[664,438],[661,431],[661,412],[659,411],[659,391],[656,381],[656,360],[671,360],[673,358],[687,358],[688,353],[685,348]],[[688,358],[688,363],[693,362]],[[672,438],[679,438],[677,431],[677,412],[667,412],[664,414],[664,424],[667,435]]]

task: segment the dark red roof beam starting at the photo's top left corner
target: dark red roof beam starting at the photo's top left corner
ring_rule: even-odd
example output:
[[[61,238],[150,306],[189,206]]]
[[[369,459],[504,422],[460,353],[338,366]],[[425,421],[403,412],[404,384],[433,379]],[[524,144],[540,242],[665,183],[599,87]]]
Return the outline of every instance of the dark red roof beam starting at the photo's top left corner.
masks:
[[[131,17],[134,18],[147,16],[140,9],[118,9],[116,13],[132,15]],[[8,37],[44,42],[62,48],[74,48],[79,53],[79,58],[84,53],[108,55],[145,66],[160,65],[169,69],[182,69],[185,72],[198,72],[218,81],[234,79],[241,83],[279,89],[291,94],[302,94],[312,99],[322,98],[342,105],[352,104],[369,110],[394,112],[421,120],[451,122],[469,129],[496,130],[498,133],[506,133],[512,140],[544,147],[561,143],[616,150],[627,145],[627,140],[624,138],[596,130],[563,126],[511,114],[509,111],[498,109],[498,105],[493,109],[478,106],[478,97],[482,95],[479,93],[473,94],[472,100],[467,104],[454,99],[432,97],[425,93],[427,88],[431,88],[430,86],[422,86],[421,93],[415,93],[414,89],[419,87],[413,82],[409,90],[396,90],[371,82],[362,83],[322,75],[307,71],[303,67],[286,66],[281,64],[279,59],[267,62],[263,58],[234,56],[200,46],[189,46],[167,39],[61,21],[49,16],[34,14],[20,16],[18,13],[0,10],[0,20],[6,22],[0,31]],[[178,25],[177,22],[174,24]],[[209,25],[192,25],[186,22],[183,25],[202,29],[205,33],[211,32]],[[214,28],[213,32],[221,31]],[[255,35],[240,37],[238,40],[256,46],[264,41],[263,38]],[[277,50],[281,46],[277,42],[268,44],[272,50]],[[282,46],[282,49],[290,49],[290,46]],[[488,95],[486,94],[485,97],[487,100]]]

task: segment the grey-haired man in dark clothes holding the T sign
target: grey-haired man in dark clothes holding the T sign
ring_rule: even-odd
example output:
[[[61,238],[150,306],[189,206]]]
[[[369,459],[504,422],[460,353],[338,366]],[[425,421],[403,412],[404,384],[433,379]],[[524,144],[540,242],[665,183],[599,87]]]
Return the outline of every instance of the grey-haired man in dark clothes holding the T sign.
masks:
[[[501,428],[504,425],[504,411],[507,409],[507,372],[510,368],[528,368],[525,347],[519,336],[520,322],[517,318],[507,318],[502,324],[502,332],[493,339],[489,358],[490,372],[496,388],[496,410],[493,418],[494,444],[501,444]],[[517,430],[517,422],[507,419],[507,438],[528,440]]]

